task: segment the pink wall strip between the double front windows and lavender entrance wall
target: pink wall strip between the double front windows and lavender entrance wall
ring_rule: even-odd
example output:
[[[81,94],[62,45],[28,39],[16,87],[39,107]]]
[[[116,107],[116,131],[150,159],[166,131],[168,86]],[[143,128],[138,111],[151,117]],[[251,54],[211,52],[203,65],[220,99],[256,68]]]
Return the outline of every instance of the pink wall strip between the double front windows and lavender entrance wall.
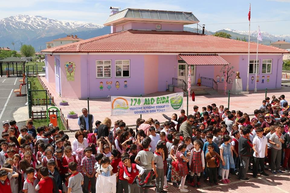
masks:
[[[144,55],[144,93],[158,90],[158,55]]]

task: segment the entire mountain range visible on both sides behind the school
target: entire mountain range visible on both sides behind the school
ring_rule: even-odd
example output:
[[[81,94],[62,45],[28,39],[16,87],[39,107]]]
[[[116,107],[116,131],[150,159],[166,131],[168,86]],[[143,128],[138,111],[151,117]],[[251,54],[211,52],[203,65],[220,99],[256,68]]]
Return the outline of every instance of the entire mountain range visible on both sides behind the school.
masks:
[[[201,29],[184,27],[185,31],[202,33]],[[65,37],[67,34],[77,35],[81,39],[89,39],[95,36],[110,33],[110,27],[94,23],[78,21],[59,21],[42,16],[16,15],[0,20],[0,47],[10,47],[10,49],[20,50],[22,44],[31,44],[36,51],[46,47],[45,42]],[[216,32],[229,33],[232,39],[248,40],[247,31],[232,29],[222,29]],[[205,31],[205,34],[213,35],[216,32]],[[270,45],[271,42],[285,40],[290,42],[290,35],[272,35],[261,32],[263,44]],[[251,31],[250,41],[257,40],[258,31]],[[14,47],[11,43],[14,43]]]

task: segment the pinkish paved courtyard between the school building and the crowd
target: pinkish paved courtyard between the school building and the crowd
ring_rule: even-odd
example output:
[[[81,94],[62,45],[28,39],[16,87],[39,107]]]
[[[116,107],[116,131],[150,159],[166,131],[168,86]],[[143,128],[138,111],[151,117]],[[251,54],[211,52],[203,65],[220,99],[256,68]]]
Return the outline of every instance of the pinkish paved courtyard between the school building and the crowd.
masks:
[[[88,107],[87,99],[78,99],[78,98],[70,98],[70,97],[60,97],[59,94],[55,91],[55,85],[49,84],[45,77],[40,77],[43,83],[46,85],[49,92],[54,96],[54,102],[56,106],[60,108],[65,117],[70,111],[74,111],[80,115],[82,112],[82,108]],[[265,91],[258,90],[257,93],[253,93],[250,91],[250,94],[244,95],[230,95],[230,110],[240,110],[242,112],[246,112],[249,115],[253,114],[254,110],[259,108],[262,104],[262,100],[265,99]],[[281,94],[284,94],[287,100],[290,97],[290,87],[282,87],[281,89],[268,89],[267,96],[270,98],[272,95],[279,97]],[[148,95],[143,95],[143,97],[149,96],[161,96],[169,94],[170,92],[156,92]],[[59,103],[62,101],[68,101],[68,106],[59,106]],[[183,109],[186,111],[186,96],[183,98]],[[188,114],[193,112],[193,106],[199,106],[199,111],[201,112],[201,107],[211,105],[212,103],[216,103],[217,106],[224,105],[224,107],[228,106],[228,94],[224,95],[223,91],[219,91],[216,95],[204,95],[204,96],[195,96],[195,101],[192,101],[191,97],[188,99]],[[94,115],[94,119],[103,121],[105,117],[111,118],[112,122],[122,119],[126,125],[133,126],[136,124],[136,119],[140,117],[140,115],[126,115],[126,116],[111,116],[111,103],[110,97],[107,98],[93,98],[93,96],[89,99],[89,112]],[[37,109],[37,106],[33,107]],[[41,107],[40,107],[41,108]],[[179,112],[166,112],[166,115],[171,116],[172,113]],[[159,120],[159,122],[165,122],[166,119],[161,115],[161,113],[152,113],[152,114],[143,114],[142,119],[153,118]],[[69,129],[77,130],[77,119],[68,119]]]

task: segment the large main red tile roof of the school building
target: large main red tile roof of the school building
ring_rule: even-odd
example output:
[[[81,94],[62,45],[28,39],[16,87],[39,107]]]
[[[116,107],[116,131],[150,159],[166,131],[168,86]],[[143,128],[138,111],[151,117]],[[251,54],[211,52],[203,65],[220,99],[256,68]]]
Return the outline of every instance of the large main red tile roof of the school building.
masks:
[[[251,53],[256,53],[256,45],[250,43]],[[42,52],[248,53],[248,42],[187,31],[126,30],[44,49]],[[260,45],[259,53],[289,52]]]

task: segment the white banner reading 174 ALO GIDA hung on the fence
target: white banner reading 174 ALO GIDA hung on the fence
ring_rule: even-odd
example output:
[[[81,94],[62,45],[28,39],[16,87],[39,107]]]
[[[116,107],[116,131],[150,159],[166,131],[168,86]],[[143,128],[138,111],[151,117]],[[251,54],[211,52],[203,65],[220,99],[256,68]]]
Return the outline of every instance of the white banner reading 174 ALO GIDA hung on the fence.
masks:
[[[183,109],[183,93],[154,97],[111,96],[111,115],[139,115]]]

